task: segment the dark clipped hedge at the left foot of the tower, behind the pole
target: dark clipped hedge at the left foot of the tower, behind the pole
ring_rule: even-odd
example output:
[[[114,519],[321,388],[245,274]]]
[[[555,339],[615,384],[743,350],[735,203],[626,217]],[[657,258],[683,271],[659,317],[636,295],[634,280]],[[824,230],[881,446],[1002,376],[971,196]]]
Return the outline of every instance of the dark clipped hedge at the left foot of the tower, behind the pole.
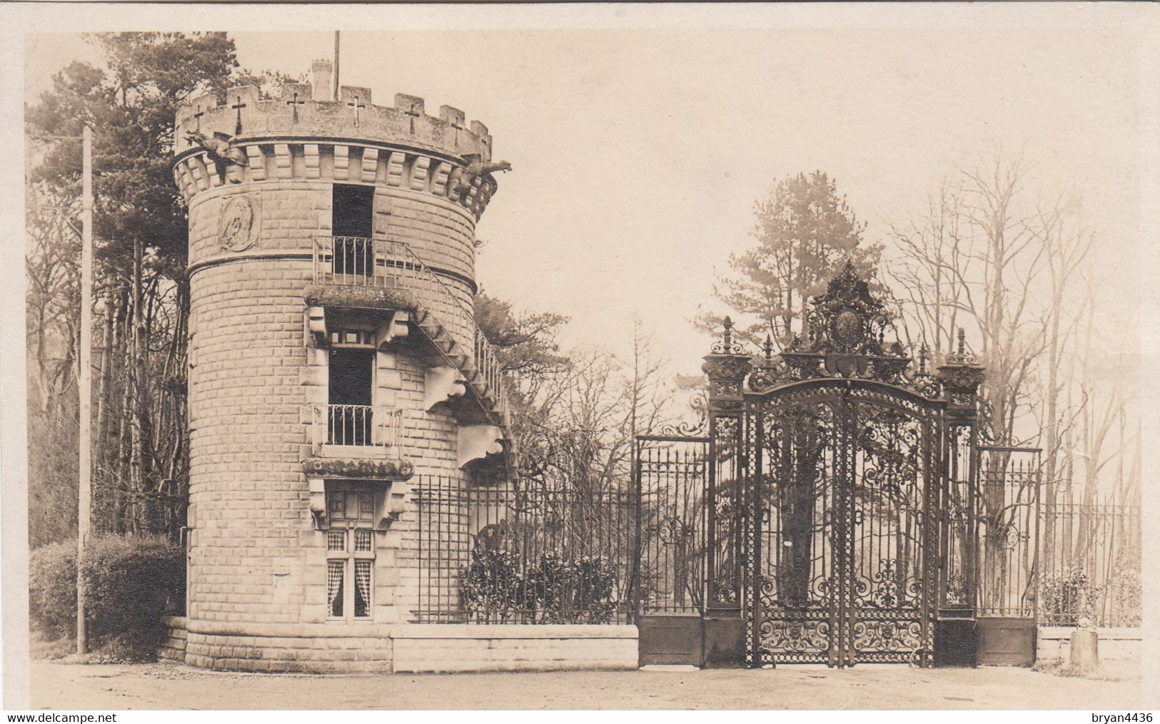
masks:
[[[184,551],[164,539],[94,539],[81,564],[88,587],[86,622],[94,650],[150,658],[161,616],[184,597]],[[29,604],[32,628],[45,638],[72,634],[77,621],[75,544],[32,551]]]

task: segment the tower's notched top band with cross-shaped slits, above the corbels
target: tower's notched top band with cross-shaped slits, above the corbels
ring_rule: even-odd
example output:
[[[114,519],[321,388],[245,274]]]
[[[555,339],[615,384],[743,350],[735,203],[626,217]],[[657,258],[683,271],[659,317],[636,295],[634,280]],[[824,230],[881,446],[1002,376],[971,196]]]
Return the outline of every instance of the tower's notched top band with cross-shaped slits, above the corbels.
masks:
[[[316,70],[317,76],[317,70]],[[375,105],[371,89],[341,86],[338,101],[316,100],[329,96],[329,80],[324,87],[311,83],[284,83],[274,98],[261,98],[258,86],[235,86],[225,98],[205,94],[177,108],[175,153],[194,149],[191,133],[212,138],[222,133],[234,141],[262,141],[292,138],[349,138],[360,141],[404,146],[441,155],[492,158],[492,137],[479,120],[441,105],[438,117],[428,116],[420,96],[397,93],[394,105]]]

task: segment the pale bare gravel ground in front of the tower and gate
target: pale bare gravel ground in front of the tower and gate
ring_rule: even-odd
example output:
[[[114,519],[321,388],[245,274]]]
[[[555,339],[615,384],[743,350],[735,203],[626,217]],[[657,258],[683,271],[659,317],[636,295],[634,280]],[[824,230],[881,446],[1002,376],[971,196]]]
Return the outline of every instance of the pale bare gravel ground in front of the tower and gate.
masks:
[[[1136,681],[1027,668],[639,671],[374,677],[32,661],[32,707],[101,709],[1132,709]],[[307,683],[309,682],[309,683]],[[1151,699],[1151,696],[1150,696]]]

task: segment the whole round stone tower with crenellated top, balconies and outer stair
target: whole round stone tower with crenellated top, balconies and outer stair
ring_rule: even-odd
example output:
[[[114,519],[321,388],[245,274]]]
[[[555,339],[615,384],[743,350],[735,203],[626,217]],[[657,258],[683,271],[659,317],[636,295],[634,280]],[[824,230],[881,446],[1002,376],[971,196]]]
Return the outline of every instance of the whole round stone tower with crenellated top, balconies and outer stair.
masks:
[[[419,587],[413,485],[508,467],[472,316],[476,222],[508,164],[458,109],[333,101],[331,64],[312,70],[176,116],[198,666],[390,671]]]

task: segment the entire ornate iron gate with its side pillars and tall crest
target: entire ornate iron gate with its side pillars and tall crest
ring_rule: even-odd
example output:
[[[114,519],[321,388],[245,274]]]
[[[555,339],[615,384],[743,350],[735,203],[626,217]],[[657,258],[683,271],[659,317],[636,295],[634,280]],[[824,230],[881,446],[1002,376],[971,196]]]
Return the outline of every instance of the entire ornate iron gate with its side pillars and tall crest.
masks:
[[[936,372],[925,350],[912,365],[850,265],[776,358],[767,341],[754,365],[725,322],[704,365],[706,624],[744,622],[751,666],[929,665],[973,646],[945,635],[974,615],[983,368],[962,334]]]

